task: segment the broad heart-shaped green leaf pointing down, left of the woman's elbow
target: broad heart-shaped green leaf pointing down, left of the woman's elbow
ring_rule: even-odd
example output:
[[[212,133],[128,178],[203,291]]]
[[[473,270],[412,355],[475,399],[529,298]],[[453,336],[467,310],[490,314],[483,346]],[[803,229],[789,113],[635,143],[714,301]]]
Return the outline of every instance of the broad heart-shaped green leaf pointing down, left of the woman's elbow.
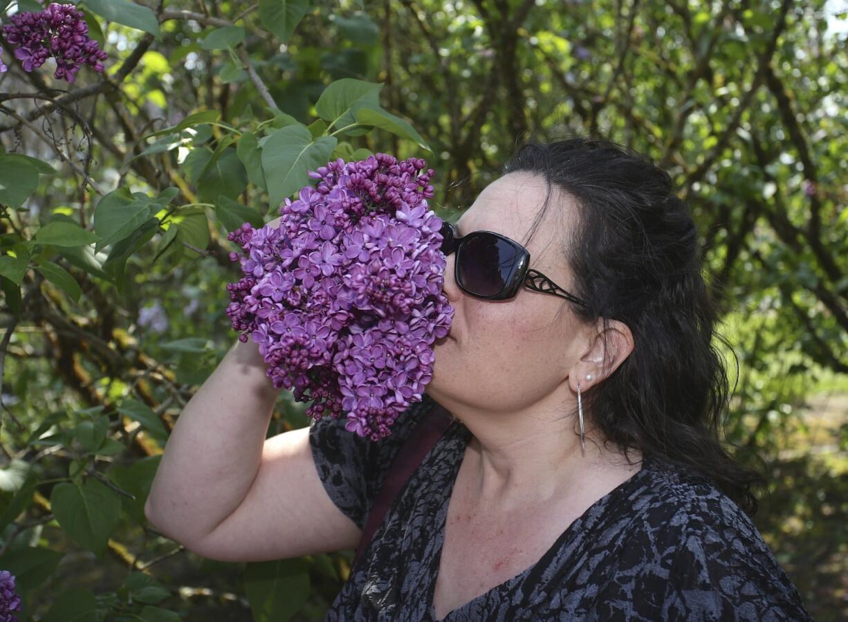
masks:
[[[80,546],[103,557],[120,514],[120,499],[97,479],[57,484],[50,495],[53,515]]]

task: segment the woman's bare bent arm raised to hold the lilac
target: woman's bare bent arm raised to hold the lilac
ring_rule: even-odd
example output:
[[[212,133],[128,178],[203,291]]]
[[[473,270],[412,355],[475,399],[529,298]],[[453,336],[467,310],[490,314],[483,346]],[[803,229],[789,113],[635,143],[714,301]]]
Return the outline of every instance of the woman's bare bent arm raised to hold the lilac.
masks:
[[[148,520],[224,561],[356,546],[361,531],[327,496],[309,429],[265,440],[279,393],[259,347],[236,342],[177,419],[144,507]]]

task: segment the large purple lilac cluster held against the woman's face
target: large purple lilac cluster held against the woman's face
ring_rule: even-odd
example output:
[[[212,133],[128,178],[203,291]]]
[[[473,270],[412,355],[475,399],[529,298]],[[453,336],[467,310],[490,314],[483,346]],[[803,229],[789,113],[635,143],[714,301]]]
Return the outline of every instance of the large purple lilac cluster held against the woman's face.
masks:
[[[432,169],[388,154],[310,171],[316,188],[280,206],[279,227],[229,235],[244,277],[227,285],[232,327],[250,333],[277,388],[347,413],[379,440],[432,379],[432,343],[453,308],[442,292],[442,221],[427,207]]]

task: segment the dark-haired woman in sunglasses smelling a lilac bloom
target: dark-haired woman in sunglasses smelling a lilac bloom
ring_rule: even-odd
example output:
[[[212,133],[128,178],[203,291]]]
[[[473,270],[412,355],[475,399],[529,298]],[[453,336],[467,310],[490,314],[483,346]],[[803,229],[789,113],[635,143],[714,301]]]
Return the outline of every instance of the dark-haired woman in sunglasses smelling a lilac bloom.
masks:
[[[444,233],[453,325],[391,436],[325,418],[264,441],[275,392],[237,346],[181,414],[148,518],[230,561],[353,548],[438,408],[452,423],[327,620],[809,619],[741,508],[756,474],[718,440],[715,315],[667,174],[601,140],[527,145]]]

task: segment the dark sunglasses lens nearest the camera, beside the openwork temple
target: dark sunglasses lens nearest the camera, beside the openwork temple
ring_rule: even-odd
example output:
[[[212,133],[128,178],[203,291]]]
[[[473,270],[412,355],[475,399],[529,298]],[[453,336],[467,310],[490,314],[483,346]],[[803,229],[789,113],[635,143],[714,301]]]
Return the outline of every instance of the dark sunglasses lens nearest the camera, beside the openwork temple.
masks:
[[[456,257],[460,285],[478,296],[499,294],[510,283],[518,251],[491,233],[471,233]]]

